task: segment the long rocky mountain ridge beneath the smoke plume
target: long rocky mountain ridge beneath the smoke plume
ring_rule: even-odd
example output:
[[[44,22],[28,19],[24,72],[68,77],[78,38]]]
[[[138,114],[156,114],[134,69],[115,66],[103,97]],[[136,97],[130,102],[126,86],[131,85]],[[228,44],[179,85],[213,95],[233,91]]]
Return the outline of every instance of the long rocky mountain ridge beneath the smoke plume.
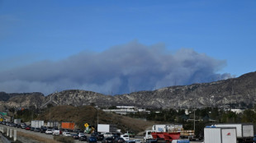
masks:
[[[223,81],[165,87],[126,95],[102,95],[86,90],[64,90],[44,96],[41,93],[0,93],[0,104],[7,107],[89,105],[99,107],[131,105],[141,108],[202,108],[252,106],[256,103],[256,72]],[[0,105],[0,106],[1,106]]]

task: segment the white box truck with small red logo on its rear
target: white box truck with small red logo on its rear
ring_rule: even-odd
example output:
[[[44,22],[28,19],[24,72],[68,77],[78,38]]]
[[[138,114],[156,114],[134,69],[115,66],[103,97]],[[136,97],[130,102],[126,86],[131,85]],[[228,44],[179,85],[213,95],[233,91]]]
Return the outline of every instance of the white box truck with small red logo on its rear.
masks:
[[[204,143],[236,143],[235,127],[205,127]]]

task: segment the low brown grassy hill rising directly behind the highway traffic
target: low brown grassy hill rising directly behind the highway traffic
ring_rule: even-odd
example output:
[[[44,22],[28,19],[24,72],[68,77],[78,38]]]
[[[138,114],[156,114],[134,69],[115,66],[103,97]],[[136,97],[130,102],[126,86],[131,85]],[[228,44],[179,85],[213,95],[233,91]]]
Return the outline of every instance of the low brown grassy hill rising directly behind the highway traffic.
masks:
[[[37,119],[45,121],[59,122],[75,122],[80,129],[84,129],[84,123],[89,125],[97,125],[97,117],[99,124],[116,124],[121,131],[145,131],[147,127],[152,127],[154,123],[145,122],[140,119],[129,118],[126,116],[117,115],[114,113],[105,113],[100,109],[92,106],[73,107],[69,105],[56,106],[45,109]]]

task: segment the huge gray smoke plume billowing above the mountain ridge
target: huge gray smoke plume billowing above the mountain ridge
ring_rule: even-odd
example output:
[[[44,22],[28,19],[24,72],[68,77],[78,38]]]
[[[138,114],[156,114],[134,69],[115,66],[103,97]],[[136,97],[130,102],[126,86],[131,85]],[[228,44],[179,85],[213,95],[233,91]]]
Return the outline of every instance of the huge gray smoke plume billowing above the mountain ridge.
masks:
[[[155,90],[230,78],[216,74],[225,60],[191,48],[175,53],[164,44],[146,46],[136,41],[103,52],[83,51],[58,62],[41,61],[0,72],[0,90],[42,92],[92,90],[106,95]]]

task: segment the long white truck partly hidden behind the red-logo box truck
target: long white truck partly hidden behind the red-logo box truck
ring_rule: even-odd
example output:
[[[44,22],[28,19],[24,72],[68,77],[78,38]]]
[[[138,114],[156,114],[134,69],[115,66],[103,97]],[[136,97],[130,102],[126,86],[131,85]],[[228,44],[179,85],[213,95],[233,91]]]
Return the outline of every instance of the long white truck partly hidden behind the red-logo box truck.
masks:
[[[254,125],[249,123],[220,123],[213,124],[215,127],[235,127],[236,136],[239,143],[253,142],[254,138]]]

